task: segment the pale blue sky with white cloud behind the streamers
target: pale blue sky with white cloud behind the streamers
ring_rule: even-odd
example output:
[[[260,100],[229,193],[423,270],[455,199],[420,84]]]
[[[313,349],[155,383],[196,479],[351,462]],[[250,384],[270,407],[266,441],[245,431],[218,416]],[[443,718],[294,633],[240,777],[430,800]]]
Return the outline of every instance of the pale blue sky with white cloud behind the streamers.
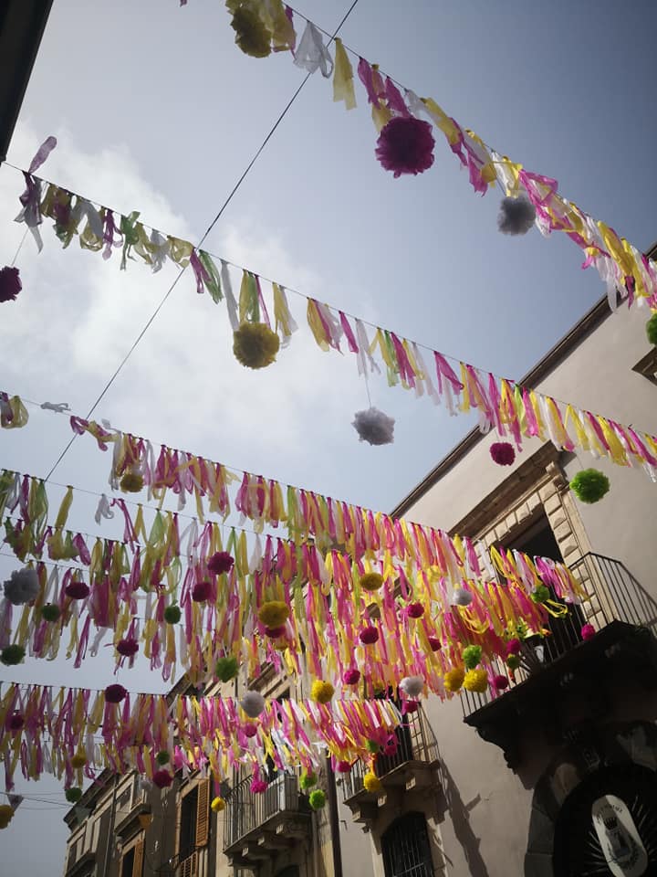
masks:
[[[331,31],[346,2],[299,0]],[[555,177],[563,195],[639,248],[657,238],[652,112],[657,6],[555,0],[468,3],[360,0],[345,44],[431,96],[498,152]],[[255,59],[234,44],[218,0],[56,0],[8,161],[29,164],[47,135],[48,179],[152,227],[196,241],[215,217],[304,73],[288,55]],[[345,111],[330,81],[308,80],[207,238],[211,252],[287,287],[498,375],[519,378],[597,301],[567,239],[506,238],[499,194],[476,195],[443,140],[426,174],[395,180],[376,161],[364,94]],[[23,237],[13,222],[22,178],[0,168],[0,264]],[[24,291],[0,312],[1,388],[84,415],[162,300],[175,272],[121,272],[49,227],[16,265]],[[223,305],[183,276],[103,398],[96,417],[349,502],[390,511],[470,427],[384,378],[372,403],[395,417],[394,444],[360,443],[351,421],[368,406],[349,356],[322,353],[304,329],[276,365],[247,372],[231,353]],[[549,390],[546,381],[546,391]],[[582,400],[586,405],[586,400]],[[612,415],[613,412],[610,412]],[[30,407],[23,430],[0,434],[0,465],[45,475],[70,438],[68,420]],[[108,490],[110,459],[79,439],[57,483]],[[51,508],[62,491],[48,488]],[[97,533],[97,498],[76,493],[69,524]],[[440,526],[441,522],[430,522]],[[112,523],[102,534],[115,535]],[[16,562],[0,547],[0,576]],[[0,678],[70,685],[112,680],[108,653],[79,671],[26,660]],[[162,691],[148,671],[134,691]],[[16,790],[26,800],[0,833],[7,873],[46,877],[63,861],[61,784]],[[47,832],[48,845],[25,841]],[[58,865],[57,865],[58,867]]]

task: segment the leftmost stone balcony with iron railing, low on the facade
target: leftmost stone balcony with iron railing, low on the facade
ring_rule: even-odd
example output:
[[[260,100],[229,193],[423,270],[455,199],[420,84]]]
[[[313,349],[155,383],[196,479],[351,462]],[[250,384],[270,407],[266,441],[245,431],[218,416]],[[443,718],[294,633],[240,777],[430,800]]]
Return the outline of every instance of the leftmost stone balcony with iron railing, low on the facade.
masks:
[[[245,777],[226,798],[224,853],[234,867],[253,868],[310,834],[310,808],[297,777],[279,774],[254,795]]]

